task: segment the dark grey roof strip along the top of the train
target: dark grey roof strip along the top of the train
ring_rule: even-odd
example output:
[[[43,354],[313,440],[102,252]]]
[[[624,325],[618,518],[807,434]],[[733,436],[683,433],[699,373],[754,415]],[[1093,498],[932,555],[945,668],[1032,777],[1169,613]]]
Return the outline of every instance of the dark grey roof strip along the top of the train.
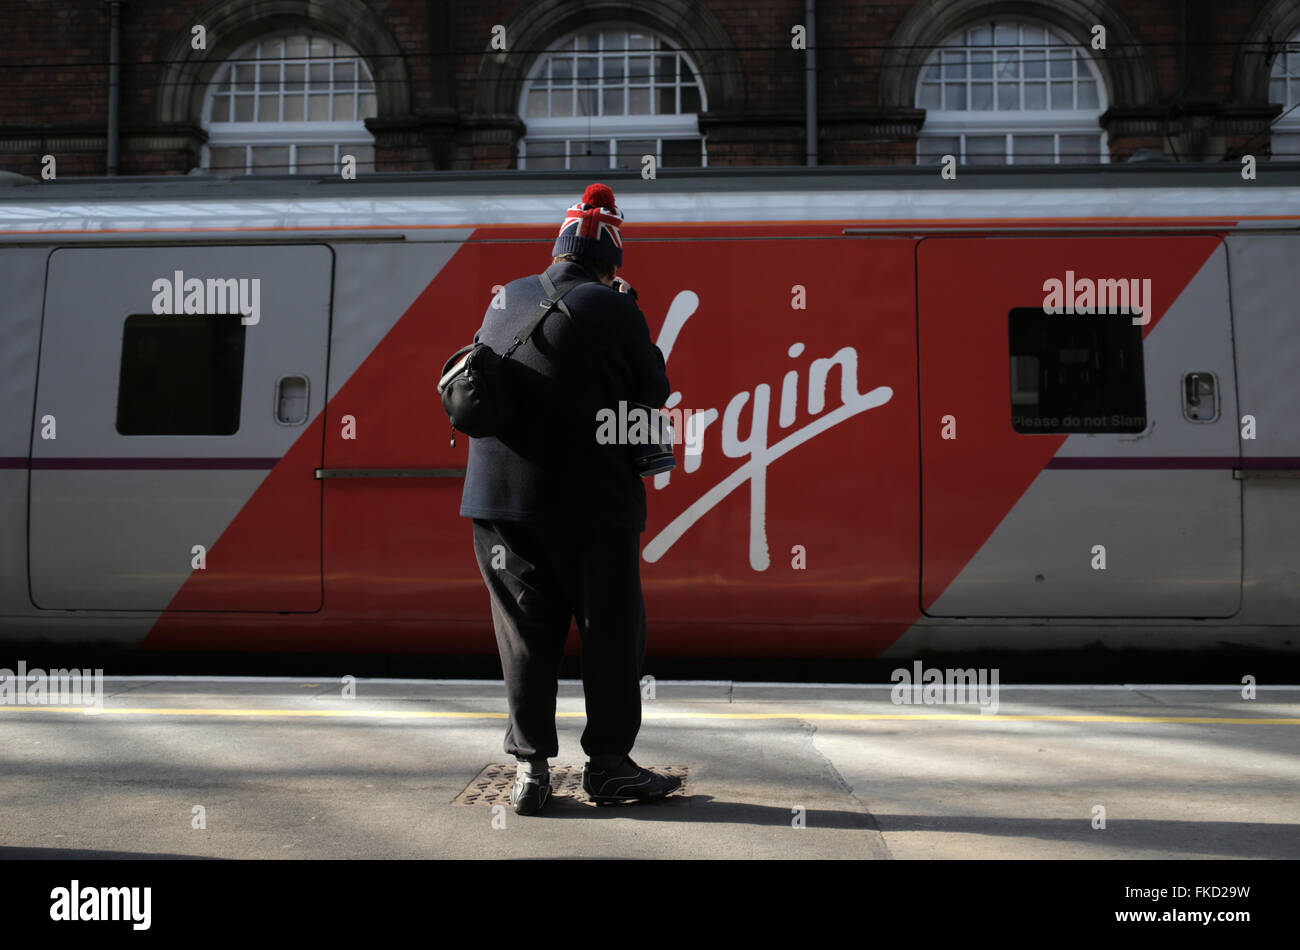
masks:
[[[727,166],[711,169],[660,169],[655,181],[645,181],[634,170],[584,172],[419,172],[374,173],[343,181],[330,175],[239,175],[209,174],[140,178],[64,178],[38,181],[0,173],[0,201],[84,201],[150,199],[294,199],[339,198],[348,191],[359,196],[442,196],[442,195],[569,195],[592,181],[603,181],[616,192],[653,194],[655,188],[673,191],[789,191],[792,187],[815,191],[980,190],[980,188],[1160,188],[1234,187],[1257,185],[1300,186],[1300,162],[1257,165],[1258,178],[1244,181],[1238,162],[1127,162],[1115,165],[1062,166],[959,166],[954,181],[942,179],[933,165],[883,166]]]

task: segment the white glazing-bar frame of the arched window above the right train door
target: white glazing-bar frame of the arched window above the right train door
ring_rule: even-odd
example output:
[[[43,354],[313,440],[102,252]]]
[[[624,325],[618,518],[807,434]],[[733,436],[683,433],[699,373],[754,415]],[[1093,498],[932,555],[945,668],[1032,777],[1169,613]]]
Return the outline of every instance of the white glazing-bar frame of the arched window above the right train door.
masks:
[[[991,135],[1002,135],[1004,136],[1005,146],[1004,146],[1004,151],[1002,151],[1002,159],[1004,159],[1004,162],[1008,164],[1008,165],[1014,165],[1015,164],[1015,157],[1014,157],[1014,139],[1015,139],[1017,135],[1034,135],[1034,136],[1052,135],[1053,136],[1053,139],[1052,139],[1052,143],[1053,143],[1052,144],[1052,152],[1053,152],[1053,155],[1052,155],[1052,164],[1060,164],[1061,162],[1061,136],[1062,135],[1096,135],[1097,136],[1098,159],[1100,159],[1100,161],[1102,164],[1109,164],[1109,161],[1110,161],[1110,149],[1108,147],[1106,131],[1104,129],[1101,129],[1098,126],[1098,123],[1097,123],[1097,120],[1101,117],[1101,114],[1109,107],[1109,96],[1106,94],[1106,84],[1105,84],[1105,81],[1102,79],[1101,71],[1097,69],[1097,65],[1092,61],[1092,57],[1088,56],[1087,51],[1083,47],[1080,47],[1078,43],[1074,43],[1071,40],[1069,40],[1067,38],[1062,36],[1060,32],[1054,31],[1046,23],[1041,23],[1041,22],[1037,22],[1035,19],[1022,18],[1022,17],[1014,17],[1014,18],[1006,18],[1006,19],[997,19],[997,21],[993,21],[992,23],[989,23],[989,26],[993,26],[993,25],[997,25],[997,26],[1015,25],[1017,27],[1031,26],[1031,27],[1036,27],[1036,29],[1043,29],[1043,30],[1046,30],[1048,36],[1052,36],[1052,38],[1056,39],[1054,43],[1052,43],[1052,42],[1046,43],[1045,48],[1048,48],[1048,49],[1050,49],[1050,48],[1072,49],[1076,53],[1078,60],[1082,61],[1082,62],[1084,62],[1084,64],[1087,64],[1087,68],[1088,68],[1089,74],[1091,74],[1089,78],[1096,83],[1096,90],[1097,90],[1097,107],[1096,107],[1096,109],[1091,109],[1091,108],[1089,109],[997,109],[997,108],[993,108],[993,109],[970,109],[970,108],[967,108],[967,109],[927,109],[927,112],[926,112],[926,122],[924,122],[924,125],[922,126],[920,131],[916,135],[916,164],[922,165],[922,164],[932,164],[933,162],[933,157],[932,156],[926,156],[926,157],[922,156],[922,139],[928,139],[928,138],[957,138],[958,139],[957,161],[958,161],[958,164],[966,164],[966,138],[967,136],[979,138],[979,136],[991,136]],[[945,51],[950,52],[950,51],[961,49],[961,51],[965,51],[967,53],[967,56],[968,56],[972,51],[980,51],[980,52],[989,51],[989,52],[994,52],[996,53],[997,51],[1023,49],[1026,47],[1037,47],[1039,45],[1039,44],[1028,44],[1028,43],[1020,43],[1020,44],[1015,44],[1015,45],[1006,45],[1006,44],[1004,44],[1004,45],[993,45],[993,44],[988,44],[988,45],[971,45],[971,44],[967,43],[967,39],[966,39],[967,31],[971,30],[971,29],[975,29],[978,26],[982,26],[982,23],[971,23],[970,26],[962,27],[959,31],[952,34],[942,43],[942,45],[939,49],[936,49],[935,52],[932,52],[926,58],[926,62],[922,65],[920,73],[916,77],[916,87],[915,87],[915,90],[913,92],[914,103],[915,103],[916,108],[923,108],[920,105],[920,99],[922,99],[922,84],[924,82],[927,82],[927,79],[926,79],[926,70],[930,66],[936,65],[936,64],[940,65],[940,69],[942,69],[942,53]],[[968,60],[967,60],[967,62],[968,62]],[[994,71],[994,74],[996,74],[996,69],[997,69],[996,62],[997,61],[996,61],[996,57],[994,57],[994,60],[993,60],[993,71]],[[1078,70],[1075,70],[1075,71],[1078,71]],[[1078,97],[1076,90],[1078,90],[1078,84],[1079,84],[1079,79],[1080,78],[1083,78],[1083,77],[1071,75],[1071,78],[1070,78],[1071,86],[1075,88],[1075,97]],[[1065,81],[1063,78],[1062,79],[1056,79],[1056,82],[1063,82],[1063,81]],[[933,82],[933,81],[928,81],[928,82]],[[939,79],[939,82],[942,86],[945,82],[946,83],[952,83],[954,81],[944,79],[941,77]],[[961,82],[963,83],[965,90],[966,90],[966,104],[968,107],[970,105],[971,87],[972,87],[974,82],[984,82],[984,81],[983,79],[972,81],[970,78],[963,78]],[[992,84],[994,81],[989,79],[988,82]],[[1020,101],[1023,101],[1023,96],[1024,96],[1023,90],[1024,90],[1024,82],[1026,82],[1026,78],[1024,78],[1023,73],[1018,77],[1018,79],[1015,79],[1013,82],[1015,82],[1015,83],[1019,84],[1019,87],[1022,90],[1020,91]],[[1036,81],[1031,79],[1031,82],[1036,82]],[[1050,68],[1048,68],[1045,70],[1044,82],[1048,83],[1049,86],[1053,82],[1052,75],[1050,75]],[[1002,81],[1002,83],[1010,84],[1008,81]],[[993,103],[994,103],[994,107],[996,107],[996,103],[997,103],[997,91],[996,91],[996,87],[993,88],[993,96],[994,96]],[[987,157],[987,155],[988,153],[982,153],[979,157]],[[1045,162],[1035,162],[1035,164],[1045,164]]]

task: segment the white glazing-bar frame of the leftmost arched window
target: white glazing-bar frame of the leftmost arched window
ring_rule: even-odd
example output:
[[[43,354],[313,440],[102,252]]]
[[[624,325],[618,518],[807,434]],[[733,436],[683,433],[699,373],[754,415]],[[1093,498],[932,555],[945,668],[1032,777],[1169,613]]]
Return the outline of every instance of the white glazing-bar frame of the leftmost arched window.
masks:
[[[355,110],[361,109],[361,96],[364,95],[378,95],[377,92],[364,92],[358,91],[356,87],[363,84],[361,75],[364,70],[364,82],[372,88],[374,87],[374,74],[365,62],[365,57],[358,53],[352,47],[342,40],[334,39],[324,34],[313,34],[304,30],[281,30],[277,32],[266,34],[265,36],[259,36],[257,39],[246,43],[239,49],[234,52],[213,74],[212,81],[208,83],[208,88],[203,97],[203,112],[202,112],[202,125],[208,133],[208,140],[204,143],[200,156],[200,165],[204,169],[211,168],[212,149],[213,148],[239,148],[244,149],[244,174],[254,174],[252,166],[252,149],[259,146],[272,146],[289,148],[289,168],[277,169],[280,174],[298,174],[298,147],[299,146],[333,146],[334,147],[334,170],[339,168],[339,160],[346,152],[347,147],[364,146],[374,147],[374,136],[365,127],[364,118],[356,120],[330,120],[330,121],[302,121],[302,122],[286,122],[280,121],[244,121],[244,122],[213,122],[212,121],[212,104],[216,97],[216,87],[224,81],[230,71],[230,66],[235,61],[244,62],[259,62],[261,60],[261,44],[270,40],[286,40],[290,38],[306,36],[307,42],[311,43],[313,39],[329,40],[337,45],[352,51],[350,55],[338,55],[330,57],[312,57],[308,62],[329,62],[333,64],[337,60],[355,60],[358,65],[356,81],[354,82],[354,101]],[[283,62],[287,57],[282,55],[278,60]],[[295,60],[298,57],[294,57]],[[306,94],[304,87],[304,94]],[[330,82],[329,82],[329,96],[330,96],[330,112],[334,110],[334,101],[337,90],[334,88],[334,73],[330,69]],[[255,73],[254,79],[254,114],[256,114],[260,96],[263,95],[261,79]],[[280,114],[285,114],[285,90],[283,83],[280,87]],[[296,94],[290,94],[296,95]],[[231,99],[231,114],[234,113],[234,101]],[[309,109],[309,100],[304,101],[303,105],[304,114]],[[221,169],[222,174],[238,174],[235,169]],[[313,172],[312,174],[320,174]]]

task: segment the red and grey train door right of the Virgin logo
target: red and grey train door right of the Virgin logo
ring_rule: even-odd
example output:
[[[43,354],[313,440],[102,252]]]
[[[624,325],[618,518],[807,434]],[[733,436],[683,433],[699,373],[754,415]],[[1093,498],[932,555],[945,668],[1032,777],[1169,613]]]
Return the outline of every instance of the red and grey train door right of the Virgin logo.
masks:
[[[918,285],[923,610],[1235,613],[1222,242],[932,238]]]

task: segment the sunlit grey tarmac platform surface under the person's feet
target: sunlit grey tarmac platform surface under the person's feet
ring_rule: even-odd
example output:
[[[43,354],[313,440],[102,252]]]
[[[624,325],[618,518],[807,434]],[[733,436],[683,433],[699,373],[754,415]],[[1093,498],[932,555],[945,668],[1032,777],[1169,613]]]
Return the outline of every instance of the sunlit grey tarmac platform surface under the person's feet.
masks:
[[[455,803],[512,765],[499,681],[342,693],[107,677],[96,712],[0,706],[0,858],[1300,858],[1296,686],[1004,685],[989,715],[660,681],[633,758],[686,794],[532,817]],[[552,768],[584,724],[562,681]]]

